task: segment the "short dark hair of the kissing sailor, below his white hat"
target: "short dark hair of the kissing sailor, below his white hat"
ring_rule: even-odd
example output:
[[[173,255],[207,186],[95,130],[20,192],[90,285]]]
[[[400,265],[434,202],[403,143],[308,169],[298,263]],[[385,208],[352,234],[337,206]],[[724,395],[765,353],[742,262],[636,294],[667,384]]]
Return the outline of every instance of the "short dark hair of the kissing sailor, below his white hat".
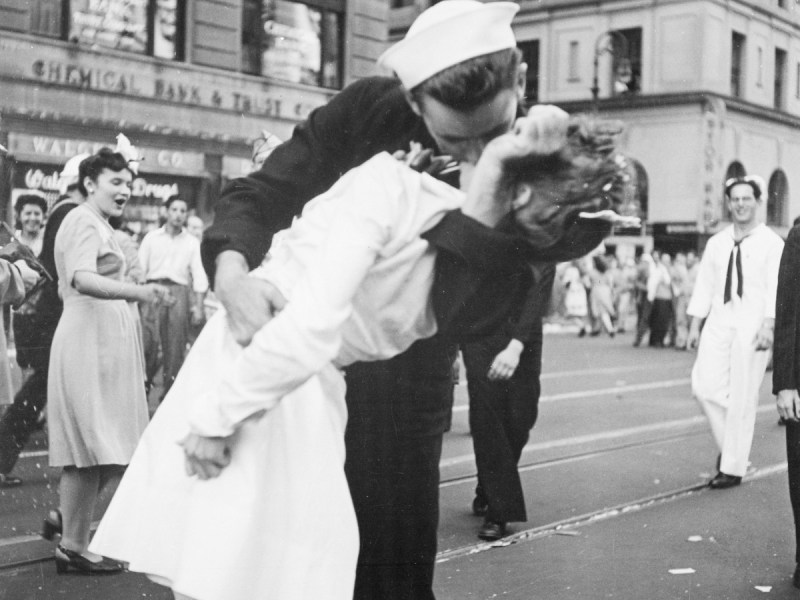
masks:
[[[521,57],[518,48],[508,48],[465,60],[415,86],[411,97],[417,104],[430,96],[457,110],[475,108],[502,90],[514,89]]]

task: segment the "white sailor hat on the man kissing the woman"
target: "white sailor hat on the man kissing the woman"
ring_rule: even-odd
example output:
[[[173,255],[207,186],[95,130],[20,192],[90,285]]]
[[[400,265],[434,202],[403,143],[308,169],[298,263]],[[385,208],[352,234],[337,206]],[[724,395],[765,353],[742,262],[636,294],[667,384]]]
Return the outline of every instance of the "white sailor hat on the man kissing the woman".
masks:
[[[378,64],[411,90],[465,60],[516,47],[511,20],[518,10],[515,2],[442,0],[420,14]]]

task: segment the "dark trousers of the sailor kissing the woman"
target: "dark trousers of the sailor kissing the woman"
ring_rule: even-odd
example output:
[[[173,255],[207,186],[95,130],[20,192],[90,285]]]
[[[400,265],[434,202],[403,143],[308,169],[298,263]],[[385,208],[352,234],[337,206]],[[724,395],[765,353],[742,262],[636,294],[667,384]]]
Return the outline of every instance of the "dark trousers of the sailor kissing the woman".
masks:
[[[345,473],[361,538],[356,600],[431,600],[439,459],[455,347],[434,337],[346,370]]]

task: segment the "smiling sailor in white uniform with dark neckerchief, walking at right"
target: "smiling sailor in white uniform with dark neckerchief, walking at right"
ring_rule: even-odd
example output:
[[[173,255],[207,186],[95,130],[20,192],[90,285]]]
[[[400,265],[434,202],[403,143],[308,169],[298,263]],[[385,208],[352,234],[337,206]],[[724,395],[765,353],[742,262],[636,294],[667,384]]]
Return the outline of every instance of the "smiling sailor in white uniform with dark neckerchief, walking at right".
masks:
[[[772,348],[783,240],[758,222],[763,190],[758,177],[726,182],[733,224],[708,240],[687,310],[687,345],[697,347],[692,392],[720,451],[719,472],[709,482],[717,489],[738,485],[747,471]]]

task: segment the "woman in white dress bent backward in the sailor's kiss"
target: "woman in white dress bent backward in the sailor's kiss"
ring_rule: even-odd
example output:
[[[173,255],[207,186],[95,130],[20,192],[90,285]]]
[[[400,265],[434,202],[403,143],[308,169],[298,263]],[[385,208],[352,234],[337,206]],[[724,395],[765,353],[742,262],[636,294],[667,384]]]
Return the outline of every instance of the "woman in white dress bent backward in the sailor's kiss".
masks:
[[[252,274],[273,283],[286,307],[246,348],[224,313],[209,321],[92,549],[168,585],[176,598],[350,600],[358,532],[343,470],[339,369],[389,358],[436,332],[435,252],[420,234],[454,209],[508,212],[508,204],[487,210],[487,202],[507,183],[499,166],[537,153],[539,126],[554,114],[535,115],[487,146],[466,198],[379,154],[310,202]],[[553,135],[565,132],[566,119]],[[574,177],[569,160],[563,170]],[[621,169],[610,155],[598,163],[605,168],[593,174],[605,180],[595,189],[609,199],[583,198],[582,206],[609,208],[622,197]],[[536,220],[550,197],[522,182],[515,191],[520,230],[552,240],[562,220]],[[578,206],[567,205],[565,214]]]

